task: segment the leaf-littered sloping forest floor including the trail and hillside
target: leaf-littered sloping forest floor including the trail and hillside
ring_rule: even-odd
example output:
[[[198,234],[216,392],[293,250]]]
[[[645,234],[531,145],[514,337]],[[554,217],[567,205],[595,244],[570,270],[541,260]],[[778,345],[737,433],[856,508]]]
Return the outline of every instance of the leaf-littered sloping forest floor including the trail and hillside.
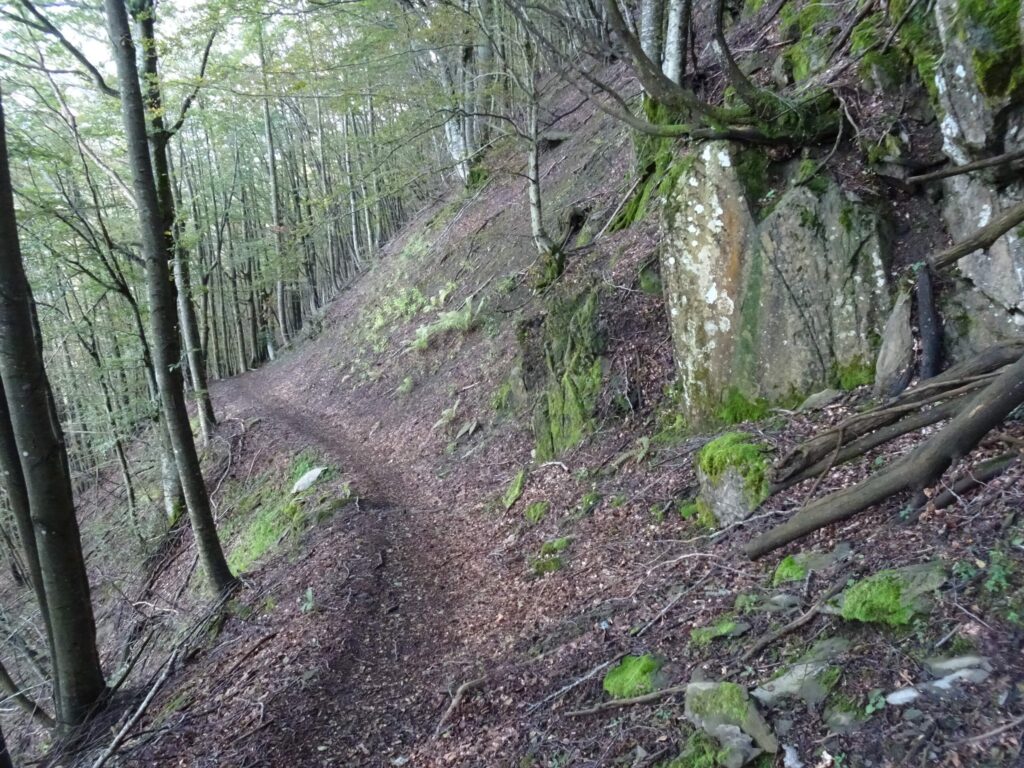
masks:
[[[528,285],[521,158],[498,154],[480,188],[421,212],[310,338],[212,387],[220,427],[208,482],[243,588],[175,656],[120,764],[660,766],[694,744],[672,686],[753,687],[839,638],[826,695],[766,711],[797,758],[787,766],[1020,765],[1020,463],[915,524],[893,499],[753,563],[740,549],[751,536],[922,435],[770,499],[743,526],[714,531],[680,514],[696,492],[695,452],[714,435],[687,434],[674,418],[656,222],[603,226],[633,186],[629,136],[573,99],[557,126],[571,137],[545,153],[543,175],[553,217],[589,211],[592,242],[578,241],[557,290],[601,291],[610,391],[593,434],[558,461],[532,459],[530,393],[510,381],[529,378],[523,339],[548,297]],[[419,327],[467,303],[476,322],[417,348]],[[627,394],[624,408],[616,395]],[[783,454],[868,400],[862,387],[821,411],[730,429]],[[1024,424],[1004,438],[1024,438]],[[986,444],[977,458],[998,452]],[[329,470],[293,494],[317,466]],[[842,556],[780,582],[780,558],[801,552]],[[943,587],[905,627],[818,610],[849,580],[936,561]],[[148,617],[177,627],[209,604],[187,534],[158,573],[132,611],[163,606]],[[808,621],[744,656],[799,616]],[[118,647],[127,621],[102,623],[104,647]],[[723,623],[730,631],[716,634]],[[120,713],[174,647],[139,663]],[[644,653],[659,659],[656,685],[675,693],[587,712],[608,701],[607,671]],[[936,655],[983,657],[986,681],[887,706],[885,694],[931,679]],[[780,750],[769,764],[782,762]]]

